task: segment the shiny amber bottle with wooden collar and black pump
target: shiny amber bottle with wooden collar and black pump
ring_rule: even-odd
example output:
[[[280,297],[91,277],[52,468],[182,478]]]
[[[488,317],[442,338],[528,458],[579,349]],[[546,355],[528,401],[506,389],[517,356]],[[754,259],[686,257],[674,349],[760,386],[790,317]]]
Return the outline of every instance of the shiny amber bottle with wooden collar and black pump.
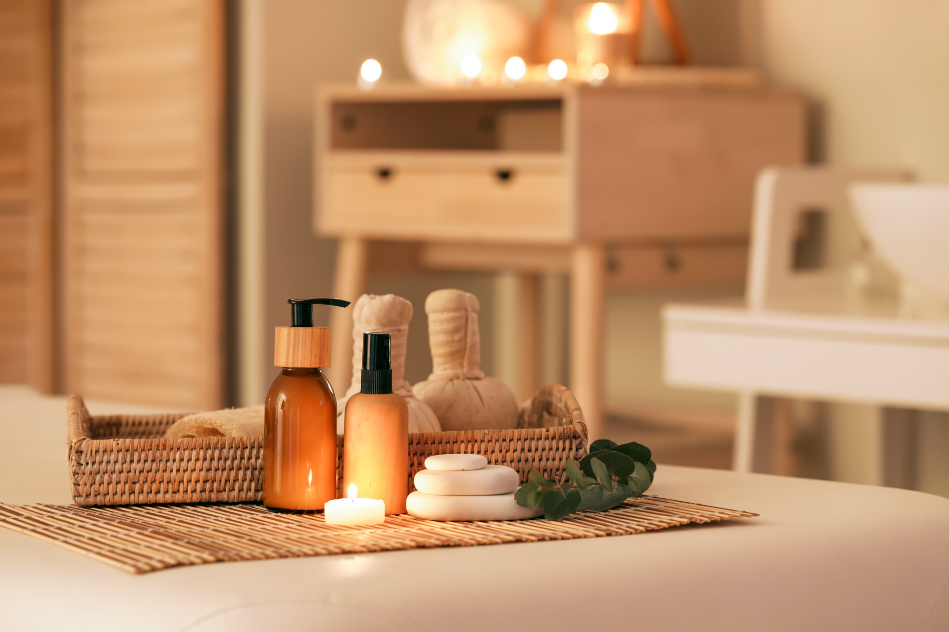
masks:
[[[289,299],[291,326],[276,327],[273,365],[282,368],[264,406],[264,506],[309,513],[336,497],[336,395],[329,327],[313,326],[313,306],[338,299]]]

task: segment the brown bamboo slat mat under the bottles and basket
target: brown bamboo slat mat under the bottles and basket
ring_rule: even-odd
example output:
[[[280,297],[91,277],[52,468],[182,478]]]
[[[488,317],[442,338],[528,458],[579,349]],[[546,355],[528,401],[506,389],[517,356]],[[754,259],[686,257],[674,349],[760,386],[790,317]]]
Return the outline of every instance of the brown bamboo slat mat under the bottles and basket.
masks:
[[[581,511],[560,522],[433,522],[401,514],[386,516],[382,525],[344,527],[327,525],[323,514],[273,513],[262,505],[0,504],[0,526],[130,573],[212,562],[628,535],[755,515],[642,496],[614,510]]]

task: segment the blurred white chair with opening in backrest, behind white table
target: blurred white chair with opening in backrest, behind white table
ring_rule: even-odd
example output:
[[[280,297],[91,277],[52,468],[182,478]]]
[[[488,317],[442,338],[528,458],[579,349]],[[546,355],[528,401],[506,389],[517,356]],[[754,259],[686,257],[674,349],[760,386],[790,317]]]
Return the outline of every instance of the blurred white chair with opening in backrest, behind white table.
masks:
[[[861,306],[854,305],[847,283],[854,263],[866,253],[850,208],[848,186],[908,179],[908,173],[894,169],[791,166],[762,170],[755,181],[746,306],[772,311],[859,311]],[[788,474],[793,467],[789,465],[790,401],[759,402],[754,390],[738,393],[733,467],[738,472],[754,469],[761,409],[771,418],[771,437],[758,441],[759,450],[762,443],[770,443],[772,469]]]

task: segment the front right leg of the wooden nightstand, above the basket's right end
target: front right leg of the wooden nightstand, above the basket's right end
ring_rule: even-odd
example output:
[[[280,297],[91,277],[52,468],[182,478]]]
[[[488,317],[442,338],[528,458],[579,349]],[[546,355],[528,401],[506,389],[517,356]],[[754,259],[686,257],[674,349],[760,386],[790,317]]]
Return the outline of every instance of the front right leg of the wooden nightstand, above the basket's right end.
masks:
[[[605,249],[579,244],[570,267],[570,390],[584,410],[590,440],[603,437]]]

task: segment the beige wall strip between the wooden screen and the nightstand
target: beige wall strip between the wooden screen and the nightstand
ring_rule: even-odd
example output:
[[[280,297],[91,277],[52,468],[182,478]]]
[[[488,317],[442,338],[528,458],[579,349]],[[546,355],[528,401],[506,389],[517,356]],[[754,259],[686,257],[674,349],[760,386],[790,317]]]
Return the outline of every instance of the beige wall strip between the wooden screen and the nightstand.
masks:
[[[355,81],[368,57],[385,77],[407,79],[399,40],[401,0],[264,2],[264,360],[273,327],[288,325],[288,298],[330,296],[336,242],[312,230],[313,88]],[[330,307],[317,308],[329,325]],[[266,393],[276,369],[263,376]],[[336,384],[343,390],[348,384]]]

